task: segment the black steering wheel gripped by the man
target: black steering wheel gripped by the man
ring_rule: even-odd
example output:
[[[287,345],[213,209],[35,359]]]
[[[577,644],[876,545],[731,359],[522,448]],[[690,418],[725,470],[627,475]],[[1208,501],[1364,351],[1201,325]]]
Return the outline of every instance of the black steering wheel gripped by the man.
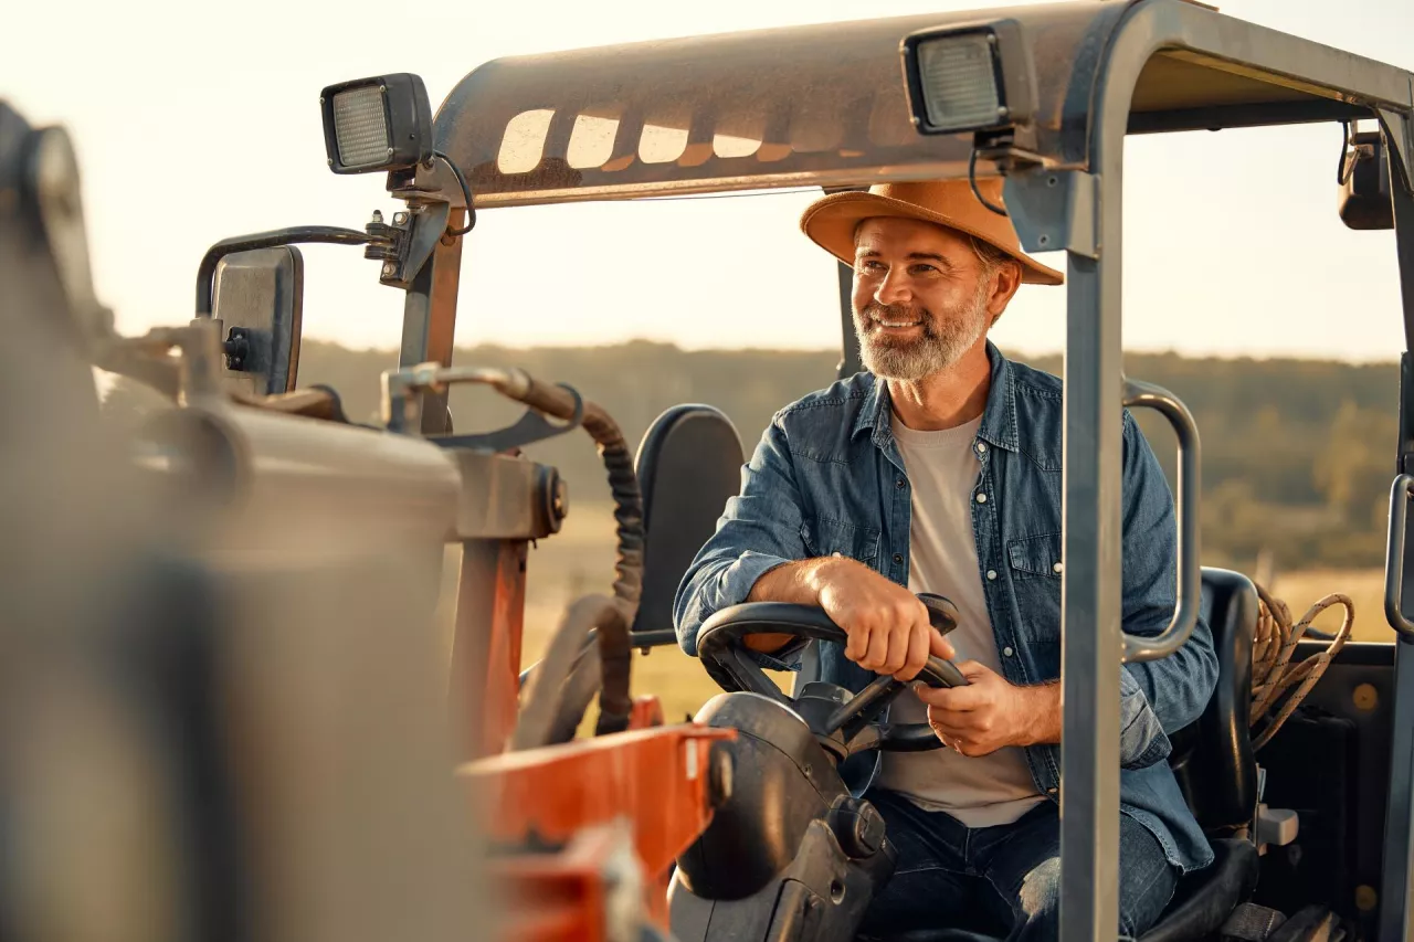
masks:
[[[942,595],[919,593],[928,608],[929,622],[940,634],[957,627],[957,607]],[[908,686],[889,675],[882,675],[867,687],[850,696],[843,687],[810,683],[799,699],[792,699],[773,685],[747,651],[741,639],[747,635],[783,634],[812,641],[831,641],[844,645],[848,635],[816,605],[790,603],[745,603],[723,608],[697,632],[697,656],[707,675],[727,693],[758,693],[796,711],[822,741],[831,741],[843,757],[864,750],[887,752],[921,752],[942,747],[942,740],[926,723],[874,723],[885,706]],[[933,655],[918,673],[930,687],[963,687],[967,679],[952,661]],[[809,694],[809,696],[807,696]],[[806,703],[810,700],[812,703]]]

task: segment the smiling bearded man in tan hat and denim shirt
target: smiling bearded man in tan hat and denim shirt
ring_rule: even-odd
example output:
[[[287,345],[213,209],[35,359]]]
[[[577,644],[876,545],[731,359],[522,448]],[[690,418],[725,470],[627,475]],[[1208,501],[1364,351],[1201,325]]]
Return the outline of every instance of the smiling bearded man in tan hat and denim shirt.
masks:
[[[1000,181],[980,184],[1001,204]],[[802,218],[854,269],[870,372],[782,409],[717,533],[679,588],[679,639],[744,601],[820,605],[848,634],[822,645],[822,679],[851,690],[912,680],[929,653],[970,686],[919,685],[891,720],[926,721],[943,748],[887,754],[867,796],[898,849],[864,932],[966,926],[1053,939],[1059,905],[1062,385],[987,339],[1022,283],[1062,276],[966,181],[826,197]],[[1124,414],[1123,627],[1155,635],[1176,604],[1168,484]],[[957,604],[946,639],[915,593]],[[1075,625],[1072,631],[1087,631]],[[790,668],[799,642],[751,639]],[[1116,666],[1120,702],[1120,925],[1150,928],[1181,874],[1212,850],[1164,761],[1217,676],[1208,624],[1178,652]]]

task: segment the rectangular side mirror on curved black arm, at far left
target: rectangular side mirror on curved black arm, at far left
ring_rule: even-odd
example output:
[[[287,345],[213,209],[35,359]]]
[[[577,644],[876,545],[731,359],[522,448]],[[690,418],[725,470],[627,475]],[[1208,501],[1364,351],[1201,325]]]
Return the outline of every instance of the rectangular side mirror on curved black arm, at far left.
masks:
[[[293,392],[303,314],[304,256],[298,249],[253,249],[221,259],[211,315],[225,341],[223,382],[247,396]]]

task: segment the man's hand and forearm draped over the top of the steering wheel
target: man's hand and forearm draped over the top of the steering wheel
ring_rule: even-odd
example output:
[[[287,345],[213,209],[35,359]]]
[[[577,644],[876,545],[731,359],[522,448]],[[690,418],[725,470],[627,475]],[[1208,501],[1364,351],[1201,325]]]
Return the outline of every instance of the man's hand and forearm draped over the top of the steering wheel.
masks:
[[[928,621],[928,608],[916,595],[855,560],[831,556],[781,566],[758,580],[749,601],[820,605],[848,635],[846,658],[899,680],[916,678],[928,655],[956,656]],[[751,645],[756,651],[779,648],[788,639],[786,635],[754,638],[759,638]]]

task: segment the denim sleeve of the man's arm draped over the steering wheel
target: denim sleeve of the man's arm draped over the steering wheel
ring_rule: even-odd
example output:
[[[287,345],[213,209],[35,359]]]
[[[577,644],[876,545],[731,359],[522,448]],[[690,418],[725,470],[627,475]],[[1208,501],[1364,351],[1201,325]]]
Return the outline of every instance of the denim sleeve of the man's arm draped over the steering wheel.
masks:
[[[697,552],[673,598],[673,627],[683,651],[697,655],[697,631],[713,614],[747,601],[772,569],[805,559],[800,491],[776,413],[741,470],[741,494],[727,501],[717,532]],[[795,666],[802,645],[755,659],[765,668]]]

